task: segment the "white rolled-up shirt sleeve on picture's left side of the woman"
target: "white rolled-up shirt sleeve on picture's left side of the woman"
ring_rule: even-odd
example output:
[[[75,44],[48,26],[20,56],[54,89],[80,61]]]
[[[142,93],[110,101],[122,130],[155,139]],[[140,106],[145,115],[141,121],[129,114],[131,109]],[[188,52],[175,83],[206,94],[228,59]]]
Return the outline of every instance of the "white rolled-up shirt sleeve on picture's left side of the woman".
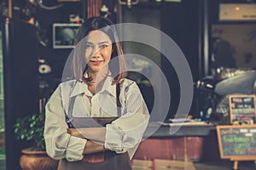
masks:
[[[83,159],[87,140],[73,137],[67,133],[61,86],[55,90],[45,106],[44,139],[46,151],[50,157],[57,160],[66,158],[67,161]]]

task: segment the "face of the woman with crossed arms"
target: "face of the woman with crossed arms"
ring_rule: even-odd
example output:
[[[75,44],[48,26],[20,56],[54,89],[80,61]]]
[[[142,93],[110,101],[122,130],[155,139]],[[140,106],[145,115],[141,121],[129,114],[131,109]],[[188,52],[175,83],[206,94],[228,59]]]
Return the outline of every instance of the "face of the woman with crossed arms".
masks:
[[[98,72],[107,66],[112,54],[112,42],[103,31],[90,31],[85,43],[88,71]]]

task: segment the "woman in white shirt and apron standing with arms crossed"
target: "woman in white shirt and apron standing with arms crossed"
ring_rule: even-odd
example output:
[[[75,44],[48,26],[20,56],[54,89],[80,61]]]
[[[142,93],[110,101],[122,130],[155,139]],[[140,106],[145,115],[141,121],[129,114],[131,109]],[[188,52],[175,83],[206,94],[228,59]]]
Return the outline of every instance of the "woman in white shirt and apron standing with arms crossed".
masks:
[[[61,160],[61,170],[131,169],[149,114],[137,84],[125,78],[113,23],[86,20],[77,42],[74,79],[62,82],[45,106],[47,153]],[[111,59],[119,61],[112,68]]]

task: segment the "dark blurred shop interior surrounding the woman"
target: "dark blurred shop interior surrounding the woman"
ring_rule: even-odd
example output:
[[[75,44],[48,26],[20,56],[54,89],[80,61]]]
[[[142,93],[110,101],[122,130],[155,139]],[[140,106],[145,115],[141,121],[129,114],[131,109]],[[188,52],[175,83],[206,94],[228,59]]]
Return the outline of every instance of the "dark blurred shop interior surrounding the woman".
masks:
[[[91,16],[157,30],[143,32],[154,47],[121,42],[124,54],[144,57],[129,59],[127,77],[137,82],[152,114],[133,169],[256,168],[256,133],[243,146],[251,151],[235,156],[225,155],[229,146],[221,140],[230,132],[225,126],[256,132],[255,0],[0,0],[0,170],[22,169],[21,150],[42,136],[44,105],[63,81],[79,26]],[[119,37],[133,33],[120,26]],[[164,36],[185,64],[165,55],[170,48]],[[231,105],[240,100],[249,101],[237,121]]]

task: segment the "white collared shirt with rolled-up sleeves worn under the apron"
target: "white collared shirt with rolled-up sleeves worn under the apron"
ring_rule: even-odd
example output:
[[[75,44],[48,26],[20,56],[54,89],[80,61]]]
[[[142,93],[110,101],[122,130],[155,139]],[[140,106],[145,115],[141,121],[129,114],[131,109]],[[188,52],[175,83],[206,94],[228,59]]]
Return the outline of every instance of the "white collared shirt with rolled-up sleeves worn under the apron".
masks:
[[[68,134],[65,122],[69,100],[73,97],[73,117],[117,116],[116,85],[112,84],[112,77],[106,78],[102,89],[95,95],[90,93],[84,82],[62,82],[45,106],[46,150],[48,155],[55,159],[79,161],[83,158],[87,140]],[[122,79],[119,99],[122,116],[107,125],[104,146],[117,153],[128,151],[131,158],[148,125],[149,113],[136,82]]]

